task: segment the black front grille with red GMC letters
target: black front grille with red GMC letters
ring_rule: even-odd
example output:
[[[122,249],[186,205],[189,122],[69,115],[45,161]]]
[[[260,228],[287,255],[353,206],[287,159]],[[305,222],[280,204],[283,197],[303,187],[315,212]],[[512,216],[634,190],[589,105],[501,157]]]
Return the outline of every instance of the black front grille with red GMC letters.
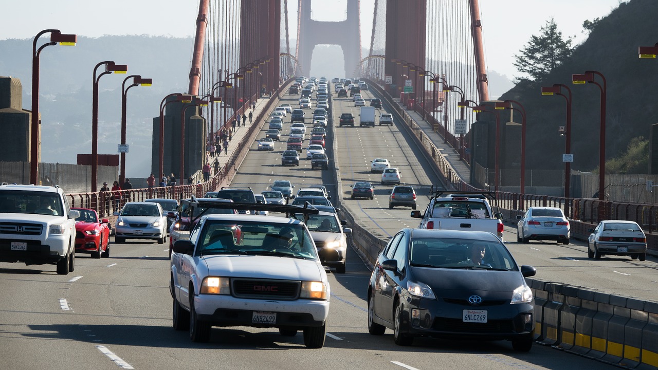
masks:
[[[236,298],[296,300],[300,286],[300,282],[290,280],[232,279],[232,292]]]

